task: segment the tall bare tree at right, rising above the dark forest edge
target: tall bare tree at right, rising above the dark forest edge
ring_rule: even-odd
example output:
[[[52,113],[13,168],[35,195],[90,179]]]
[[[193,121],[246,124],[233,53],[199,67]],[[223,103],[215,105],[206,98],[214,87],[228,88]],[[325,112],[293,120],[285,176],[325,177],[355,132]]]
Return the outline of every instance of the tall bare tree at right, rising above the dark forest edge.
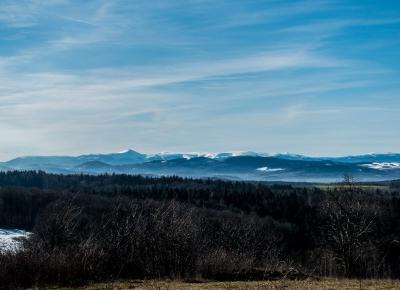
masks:
[[[371,234],[376,227],[380,207],[351,179],[344,184],[339,190],[328,193],[320,210],[325,219],[323,231],[326,240],[343,265],[344,275],[353,277],[360,275],[359,264],[372,245]]]

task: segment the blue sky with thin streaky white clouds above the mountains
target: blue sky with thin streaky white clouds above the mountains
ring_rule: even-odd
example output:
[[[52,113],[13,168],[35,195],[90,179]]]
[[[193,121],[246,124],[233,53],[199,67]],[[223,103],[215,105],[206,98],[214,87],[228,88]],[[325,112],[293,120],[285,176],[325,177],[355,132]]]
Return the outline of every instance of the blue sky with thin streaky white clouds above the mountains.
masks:
[[[0,0],[0,160],[400,152],[398,0]]]

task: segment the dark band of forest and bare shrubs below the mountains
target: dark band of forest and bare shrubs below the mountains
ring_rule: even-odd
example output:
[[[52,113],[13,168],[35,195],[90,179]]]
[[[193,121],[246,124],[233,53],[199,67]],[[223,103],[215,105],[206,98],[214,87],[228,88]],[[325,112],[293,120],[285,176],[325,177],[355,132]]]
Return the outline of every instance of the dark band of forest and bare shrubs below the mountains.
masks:
[[[129,175],[0,173],[4,288],[135,278],[400,278],[400,194]]]

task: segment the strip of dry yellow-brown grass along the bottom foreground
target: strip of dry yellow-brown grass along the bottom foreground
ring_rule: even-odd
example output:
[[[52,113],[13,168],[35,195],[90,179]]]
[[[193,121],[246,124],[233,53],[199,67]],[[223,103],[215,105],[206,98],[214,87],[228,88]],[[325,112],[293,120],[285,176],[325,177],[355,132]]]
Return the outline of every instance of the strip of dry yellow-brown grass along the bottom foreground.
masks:
[[[321,280],[303,280],[303,281],[262,281],[262,282],[179,282],[179,281],[129,281],[115,282],[106,284],[93,284],[81,288],[48,288],[58,290],[80,289],[80,290],[353,290],[353,289],[400,289],[400,281],[395,280],[362,280],[361,287],[358,280],[344,279],[321,279]]]

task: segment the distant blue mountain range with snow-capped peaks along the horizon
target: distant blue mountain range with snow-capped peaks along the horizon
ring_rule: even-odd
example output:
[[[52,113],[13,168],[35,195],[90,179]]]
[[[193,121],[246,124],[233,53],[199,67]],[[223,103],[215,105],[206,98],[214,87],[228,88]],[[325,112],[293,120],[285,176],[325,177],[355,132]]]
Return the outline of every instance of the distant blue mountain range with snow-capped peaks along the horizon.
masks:
[[[80,156],[18,157],[0,162],[0,171],[7,170],[300,182],[335,182],[350,174],[359,181],[381,181],[400,178],[400,154],[309,157],[256,152],[142,154],[126,150]]]

